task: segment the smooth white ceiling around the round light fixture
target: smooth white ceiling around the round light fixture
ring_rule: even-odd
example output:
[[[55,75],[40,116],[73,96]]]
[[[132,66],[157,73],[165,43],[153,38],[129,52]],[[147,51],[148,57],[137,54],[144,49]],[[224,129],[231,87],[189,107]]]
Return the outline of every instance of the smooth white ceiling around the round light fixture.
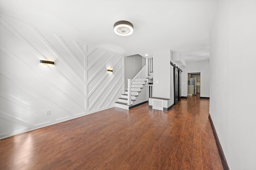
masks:
[[[0,0],[0,11],[92,45],[129,56],[180,51],[186,61],[209,60],[218,0]],[[132,35],[113,31],[116,21]]]

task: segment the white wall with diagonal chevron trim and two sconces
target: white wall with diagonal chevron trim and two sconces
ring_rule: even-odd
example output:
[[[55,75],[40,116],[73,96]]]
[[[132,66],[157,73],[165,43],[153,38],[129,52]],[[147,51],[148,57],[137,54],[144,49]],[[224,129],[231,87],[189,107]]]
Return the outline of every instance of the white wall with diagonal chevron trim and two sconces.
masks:
[[[114,107],[122,56],[6,14],[0,23],[0,138]]]

